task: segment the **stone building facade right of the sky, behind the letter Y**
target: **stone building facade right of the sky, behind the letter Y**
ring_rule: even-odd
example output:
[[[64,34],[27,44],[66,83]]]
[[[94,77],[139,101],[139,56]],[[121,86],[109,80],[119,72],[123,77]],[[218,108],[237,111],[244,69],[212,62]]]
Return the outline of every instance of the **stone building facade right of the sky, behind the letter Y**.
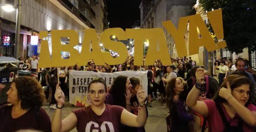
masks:
[[[163,21],[171,20],[177,28],[179,18],[189,16],[196,0],[142,0],[141,10],[141,28],[163,28],[168,44],[169,54],[176,58],[175,43],[172,36],[162,26]],[[188,40],[187,38],[185,38]]]

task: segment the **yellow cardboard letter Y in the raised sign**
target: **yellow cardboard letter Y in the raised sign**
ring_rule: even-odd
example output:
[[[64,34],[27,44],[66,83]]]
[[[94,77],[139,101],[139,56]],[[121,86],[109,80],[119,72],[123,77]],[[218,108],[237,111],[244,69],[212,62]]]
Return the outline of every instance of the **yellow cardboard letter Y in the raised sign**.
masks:
[[[162,25],[174,39],[176,50],[179,57],[187,56],[184,34],[186,33],[188,19],[189,17],[180,18],[178,29],[175,28],[171,20],[162,22]]]

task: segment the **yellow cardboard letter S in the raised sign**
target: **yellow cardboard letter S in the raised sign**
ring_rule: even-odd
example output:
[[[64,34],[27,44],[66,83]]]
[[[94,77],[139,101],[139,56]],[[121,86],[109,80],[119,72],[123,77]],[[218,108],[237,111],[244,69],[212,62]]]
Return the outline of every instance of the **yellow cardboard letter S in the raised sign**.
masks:
[[[117,52],[119,57],[113,58],[109,52],[102,52],[103,60],[110,65],[122,64],[128,56],[127,48],[122,42],[110,40],[111,35],[115,35],[118,40],[126,40],[125,31],[123,29],[106,29],[100,36],[101,43],[104,48]]]

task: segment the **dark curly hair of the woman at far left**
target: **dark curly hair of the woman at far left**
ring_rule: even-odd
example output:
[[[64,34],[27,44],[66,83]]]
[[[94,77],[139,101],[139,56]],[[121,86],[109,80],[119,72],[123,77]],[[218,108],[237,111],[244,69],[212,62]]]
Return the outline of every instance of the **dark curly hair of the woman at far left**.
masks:
[[[21,101],[22,109],[39,109],[45,101],[45,94],[41,84],[34,78],[22,76],[15,78],[17,97]]]

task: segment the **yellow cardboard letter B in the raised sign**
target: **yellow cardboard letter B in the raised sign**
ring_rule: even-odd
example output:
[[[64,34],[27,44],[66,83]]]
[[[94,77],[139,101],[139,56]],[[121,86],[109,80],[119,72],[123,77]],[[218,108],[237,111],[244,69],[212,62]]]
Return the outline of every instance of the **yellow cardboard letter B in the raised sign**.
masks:
[[[64,67],[75,65],[79,62],[80,54],[74,49],[78,42],[78,35],[74,30],[52,30],[52,67]],[[68,37],[68,44],[61,44],[60,38]],[[70,58],[61,59],[61,52],[70,53]]]

